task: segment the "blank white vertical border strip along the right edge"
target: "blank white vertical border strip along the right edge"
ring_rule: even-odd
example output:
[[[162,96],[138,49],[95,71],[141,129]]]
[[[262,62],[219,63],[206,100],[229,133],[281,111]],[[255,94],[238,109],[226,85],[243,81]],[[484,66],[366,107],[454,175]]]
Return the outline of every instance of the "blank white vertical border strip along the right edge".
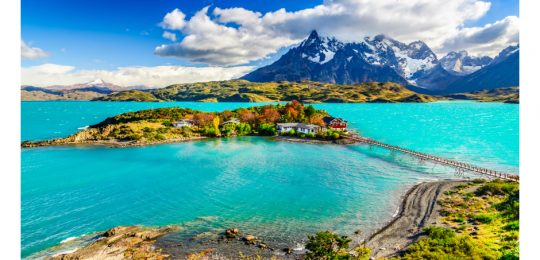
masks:
[[[540,207],[540,10],[538,1],[520,1],[520,257],[539,259]]]

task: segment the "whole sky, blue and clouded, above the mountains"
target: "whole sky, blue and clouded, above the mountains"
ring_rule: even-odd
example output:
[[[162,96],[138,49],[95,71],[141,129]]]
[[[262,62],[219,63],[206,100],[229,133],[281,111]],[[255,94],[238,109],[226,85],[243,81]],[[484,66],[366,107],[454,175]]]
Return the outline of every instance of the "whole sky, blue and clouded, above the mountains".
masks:
[[[405,42],[424,40],[439,53],[467,49],[474,54],[490,56],[493,56],[504,45],[517,41],[517,33],[507,35],[508,28],[517,28],[517,17],[519,17],[517,0],[454,0],[454,2],[460,2],[461,6],[449,5],[447,7],[443,5],[453,1],[438,0],[441,5],[440,10],[437,9],[437,5],[426,5],[421,8],[407,6],[414,1],[384,0],[360,4],[355,3],[355,0],[327,2],[307,0],[22,0],[22,40],[30,47],[46,52],[46,55],[37,55],[38,58],[23,58],[22,66],[31,68],[42,64],[57,64],[72,66],[77,71],[163,65],[257,67],[277,59],[290,46],[306,36],[311,29],[349,41],[362,39],[362,35],[384,33]],[[397,11],[392,13],[391,8],[381,7],[379,2],[386,2],[392,6],[403,5],[403,8],[411,10],[411,15],[402,17],[402,13]],[[205,7],[208,7],[206,13],[203,12],[206,10]],[[228,9],[233,7],[241,7],[242,12],[237,13]],[[332,12],[342,12],[337,11],[341,10],[340,7],[347,9],[345,13],[332,16]],[[167,29],[166,26],[160,25],[164,16],[175,8],[178,8],[179,12],[185,16],[184,21],[181,22],[186,25],[181,29],[170,29],[170,27]],[[276,12],[280,8],[285,8],[286,12]],[[355,12],[364,9],[374,11],[358,15]],[[220,12],[220,10],[225,11]],[[395,16],[396,21],[403,19],[404,27],[401,28],[399,22],[396,25],[377,20],[377,16],[370,14],[377,13],[377,10],[380,10],[378,15],[381,17]],[[463,14],[468,12],[471,14]],[[201,18],[198,20],[199,23],[196,23],[197,19],[192,19],[197,13]],[[252,14],[260,18],[255,23],[263,28],[263,34],[267,34],[263,35],[264,37],[259,35],[261,32],[253,29],[250,24],[253,20],[247,19]],[[281,18],[276,18],[279,15],[284,15],[286,19],[282,21]],[[427,18],[428,21],[424,22],[427,24],[420,25],[425,28],[424,31],[406,26],[416,22],[410,20],[414,19],[415,15],[418,21]],[[440,17],[439,20],[436,20],[437,15]],[[454,17],[457,18],[454,19]],[[212,24],[201,23],[204,18],[208,18]],[[440,22],[445,19],[448,19],[450,26]],[[429,28],[430,24],[433,24],[433,28]],[[497,26],[489,26],[490,24],[497,24]],[[486,26],[490,28],[483,28]],[[224,36],[223,40],[216,40],[212,37],[212,34],[217,35],[231,29],[237,31],[230,34],[229,38]],[[515,30],[517,29],[514,28]],[[162,37],[164,31],[174,33],[177,41],[171,42],[164,39]],[[490,40],[492,43],[472,44],[478,43],[475,37],[480,37],[479,35],[485,37],[486,33],[489,34],[488,38],[492,39]],[[447,35],[453,35],[455,39],[443,39]],[[186,36],[204,40],[200,43],[188,43],[183,39]],[[234,37],[251,40],[236,43]],[[216,42],[212,43],[212,39]],[[162,51],[155,51],[156,47],[163,44],[165,46]],[[201,44],[207,44],[208,53]],[[259,45],[264,46],[265,49],[261,49],[262,47],[251,49]],[[207,55],[201,55],[201,50],[213,56],[209,58]],[[246,54],[244,50],[249,53]],[[155,52],[160,55],[156,55]],[[23,81],[24,79],[23,75]]]

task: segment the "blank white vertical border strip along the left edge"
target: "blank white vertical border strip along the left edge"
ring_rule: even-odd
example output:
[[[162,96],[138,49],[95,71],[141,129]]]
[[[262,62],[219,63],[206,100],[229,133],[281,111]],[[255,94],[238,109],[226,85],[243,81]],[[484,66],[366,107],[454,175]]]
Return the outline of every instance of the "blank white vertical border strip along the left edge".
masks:
[[[21,257],[20,235],[20,75],[21,75],[21,3],[18,0],[0,1],[2,30],[0,55],[0,236],[2,259]]]

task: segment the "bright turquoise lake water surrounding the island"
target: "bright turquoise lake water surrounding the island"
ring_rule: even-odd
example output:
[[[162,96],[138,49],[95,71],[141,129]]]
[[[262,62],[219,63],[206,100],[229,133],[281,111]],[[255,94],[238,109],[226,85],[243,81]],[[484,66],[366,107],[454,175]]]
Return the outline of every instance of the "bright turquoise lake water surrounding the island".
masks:
[[[22,102],[22,140],[63,137],[119,113],[157,107],[221,111],[254,103]],[[316,104],[382,142],[519,172],[519,105],[477,102]],[[133,148],[21,151],[22,257],[117,225],[228,227],[299,242],[331,229],[371,232],[415,183],[451,168],[365,145],[238,137]]]

